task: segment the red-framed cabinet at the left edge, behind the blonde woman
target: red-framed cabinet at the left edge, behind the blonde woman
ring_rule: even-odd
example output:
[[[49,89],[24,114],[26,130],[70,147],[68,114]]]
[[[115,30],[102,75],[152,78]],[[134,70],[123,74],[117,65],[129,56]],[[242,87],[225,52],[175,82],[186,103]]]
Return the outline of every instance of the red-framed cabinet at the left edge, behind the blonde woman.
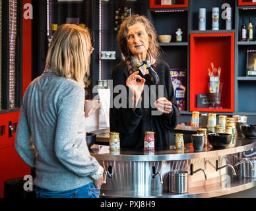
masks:
[[[15,80],[15,86],[22,89],[21,92],[20,89],[17,89],[19,92],[16,90],[13,92],[13,88],[11,89],[10,86],[2,86],[4,92],[8,94],[2,95],[3,90],[2,93],[0,93],[1,106],[3,106],[0,106],[0,198],[3,198],[5,181],[16,177],[24,177],[24,175],[30,175],[30,167],[23,162],[15,150],[15,135],[18,117],[20,115],[18,99],[23,96],[28,84],[31,82],[32,75],[32,20],[22,18],[20,20],[22,21],[22,27],[20,27],[21,23],[17,20],[17,17],[22,16],[23,9],[26,8],[25,5],[31,5],[31,3],[31,0],[1,1],[0,7],[1,15],[5,12],[5,18],[3,18],[3,16],[0,18],[2,25],[0,28],[0,30],[2,30],[1,36],[5,38],[5,48],[0,53],[1,57],[4,58],[2,61],[5,61],[5,64],[2,66],[5,68],[2,69],[1,76],[7,75],[7,73],[11,75],[10,73],[15,72],[8,80]],[[24,9],[24,12],[26,10],[28,9]],[[5,27],[5,29],[10,28],[10,30],[3,30],[3,27]],[[19,36],[15,38],[17,34]],[[20,51],[16,48],[20,48]],[[8,57],[6,51],[8,52]],[[22,57],[22,61],[19,60],[21,59],[20,57]],[[15,63],[15,65],[10,65],[13,63]],[[14,75],[16,75],[16,77]],[[3,82],[3,78],[1,79]],[[20,81],[20,84],[18,81]],[[6,80],[4,82],[6,82]],[[9,96],[15,96],[15,107],[7,103],[11,101],[9,100]]]

